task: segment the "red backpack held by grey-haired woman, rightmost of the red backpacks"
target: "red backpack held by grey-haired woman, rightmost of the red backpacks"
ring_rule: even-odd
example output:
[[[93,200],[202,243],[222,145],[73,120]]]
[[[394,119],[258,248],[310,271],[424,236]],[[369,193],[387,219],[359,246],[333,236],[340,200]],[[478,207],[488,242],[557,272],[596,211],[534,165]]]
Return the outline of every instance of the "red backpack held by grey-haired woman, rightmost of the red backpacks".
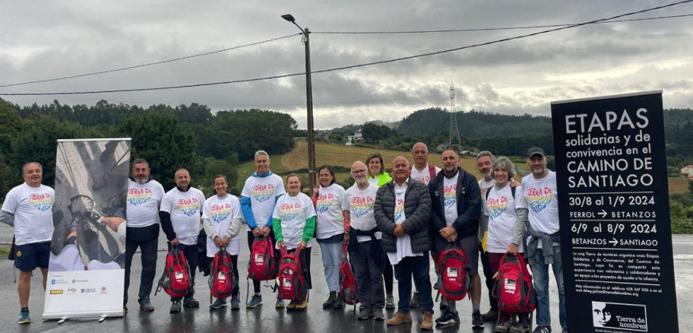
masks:
[[[492,294],[498,299],[499,310],[519,314],[532,312],[537,307],[532,276],[520,254],[503,255],[494,278]]]

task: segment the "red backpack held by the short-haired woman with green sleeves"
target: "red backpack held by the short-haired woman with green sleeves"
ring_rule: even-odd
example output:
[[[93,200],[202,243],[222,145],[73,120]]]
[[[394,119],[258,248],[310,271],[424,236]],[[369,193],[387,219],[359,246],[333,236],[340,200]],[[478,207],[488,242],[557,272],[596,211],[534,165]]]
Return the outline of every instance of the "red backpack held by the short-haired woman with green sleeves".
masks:
[[[296,247],[293,254],[289,254],[286,247],[280,248],[282,252],[279,265],[279,297],[285,300],[304,300],[308,295],[308,284],[301,267],[301,247]]]

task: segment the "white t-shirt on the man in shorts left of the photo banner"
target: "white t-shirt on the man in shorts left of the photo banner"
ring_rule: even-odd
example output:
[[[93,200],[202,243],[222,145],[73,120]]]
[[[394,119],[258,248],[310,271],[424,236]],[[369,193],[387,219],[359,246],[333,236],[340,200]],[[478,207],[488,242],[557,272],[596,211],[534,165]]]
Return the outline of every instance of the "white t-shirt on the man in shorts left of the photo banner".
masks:
[[[7,192],[2,210],[14,214],[16,245],[52,240],[54,203],[55,191],[46,185],[23,183]]]

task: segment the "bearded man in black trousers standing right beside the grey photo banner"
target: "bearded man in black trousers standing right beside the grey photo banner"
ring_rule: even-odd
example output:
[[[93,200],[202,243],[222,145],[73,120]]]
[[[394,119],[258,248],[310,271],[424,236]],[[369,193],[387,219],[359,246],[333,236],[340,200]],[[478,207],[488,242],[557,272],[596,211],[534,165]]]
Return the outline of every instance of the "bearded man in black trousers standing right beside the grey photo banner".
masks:
[[[152,285],[156,275],[157,243],[159,238],[159,206],[164,188],[149,176],[149,163],[137,158],[132,165],[132,177],[128,181],[126,199],[127,221],[125,242],[125,295],[123,308],[127,311],[130,267],[137,247],[142,255],[142,275],[138,292],[140,310],[153,311],[150,302]]]

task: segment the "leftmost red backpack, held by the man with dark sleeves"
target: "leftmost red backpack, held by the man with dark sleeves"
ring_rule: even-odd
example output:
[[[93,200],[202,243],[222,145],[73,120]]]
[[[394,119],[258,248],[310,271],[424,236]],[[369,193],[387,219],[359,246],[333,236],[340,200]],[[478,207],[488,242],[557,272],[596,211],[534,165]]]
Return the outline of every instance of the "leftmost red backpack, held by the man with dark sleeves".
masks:
[[[183,297],[190,288],[190,268],[185,255],[174,246],[166,255],[166,266],[161,274],[154,296],[164,288],[171,297]]]

